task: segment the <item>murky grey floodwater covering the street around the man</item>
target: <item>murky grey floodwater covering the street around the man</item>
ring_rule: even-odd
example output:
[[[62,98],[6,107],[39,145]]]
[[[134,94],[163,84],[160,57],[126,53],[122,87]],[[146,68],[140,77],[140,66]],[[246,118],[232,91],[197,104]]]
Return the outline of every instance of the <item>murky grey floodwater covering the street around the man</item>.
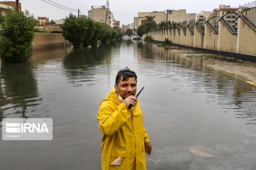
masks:
[[[2,64],[0,117],[52,118],[53,140],[0,140],[0,169],[101,169],[98,106],[128,66],[145,86],[148,170],[255,170],[256,86],[207,67],[216,59],[184,53],[128,40]]]

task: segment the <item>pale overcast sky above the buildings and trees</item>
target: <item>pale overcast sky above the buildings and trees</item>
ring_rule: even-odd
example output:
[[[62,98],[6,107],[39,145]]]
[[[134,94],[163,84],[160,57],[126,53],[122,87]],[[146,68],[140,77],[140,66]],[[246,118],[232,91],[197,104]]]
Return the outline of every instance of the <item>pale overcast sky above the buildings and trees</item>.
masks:
[[[4,0],[0,0],[4,1]],[[8,0],[6,0],[8,1]],[[15,1],[15,0],[10,0]],[[106,0],[44,0],[51,4],[53,2],[73,8],[80,9],[84,15],[88,15],[91,6],[106,5]],[[50,5],[42,0],[20,0],[22,11],[28,10],[37,18],[48,17],[50,20],[65,18],[70,11]],[[252,0],[109,0],[109,8],[113,12],[114,19],[122,24],[130,24],[138,12],[152,12],[169,10],[187,10],[187,13],[200,13],[202,10],[212,11],[220,4],[238,7]],[[54,4],[56,5],[56,4]],[[77,12],[71,12],[77,15]]]

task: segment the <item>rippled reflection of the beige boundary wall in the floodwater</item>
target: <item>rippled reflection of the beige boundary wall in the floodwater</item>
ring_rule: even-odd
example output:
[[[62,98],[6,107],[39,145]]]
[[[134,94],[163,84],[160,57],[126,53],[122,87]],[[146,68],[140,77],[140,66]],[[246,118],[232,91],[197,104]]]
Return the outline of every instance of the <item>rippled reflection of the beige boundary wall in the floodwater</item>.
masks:
[[[256,124],[256,87],[208,67],[221,61],[203,54],[189,56],[189,51],[164,50],[155,45],[142,46],[140,52],[141,74],[161,74],[162,78],[190,83],[188,86],[192,87],[192,92],[209,94],[206,99],[208,104],[215,102],[222,108],[235,109],[238,112],[236,118],[248,119],[246,124]],[[183,85],[177,84],[171,90],[181,87]]]

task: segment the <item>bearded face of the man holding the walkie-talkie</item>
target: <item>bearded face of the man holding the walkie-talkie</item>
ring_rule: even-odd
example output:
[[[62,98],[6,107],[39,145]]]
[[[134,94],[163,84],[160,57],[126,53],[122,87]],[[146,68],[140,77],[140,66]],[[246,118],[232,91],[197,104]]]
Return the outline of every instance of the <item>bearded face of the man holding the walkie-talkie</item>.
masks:
[[[123,99],[131,95],[135,96],[137,90],[135,77],[129,77],[126,81],[123,81],[123,77],[121,77],[118,83],[118,88],[115,85],[115,89]]]

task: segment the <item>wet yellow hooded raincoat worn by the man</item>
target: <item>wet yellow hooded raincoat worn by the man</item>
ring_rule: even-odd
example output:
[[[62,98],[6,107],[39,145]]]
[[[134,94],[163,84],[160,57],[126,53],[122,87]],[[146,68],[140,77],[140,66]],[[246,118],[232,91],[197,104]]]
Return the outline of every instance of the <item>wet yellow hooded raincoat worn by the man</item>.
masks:
[[[102,170],[146,170],[144,142],[149,142],[149,137],[139,102],[127,109],[115,91],[113,87],[100,103],[97,115],[102,131]]]

